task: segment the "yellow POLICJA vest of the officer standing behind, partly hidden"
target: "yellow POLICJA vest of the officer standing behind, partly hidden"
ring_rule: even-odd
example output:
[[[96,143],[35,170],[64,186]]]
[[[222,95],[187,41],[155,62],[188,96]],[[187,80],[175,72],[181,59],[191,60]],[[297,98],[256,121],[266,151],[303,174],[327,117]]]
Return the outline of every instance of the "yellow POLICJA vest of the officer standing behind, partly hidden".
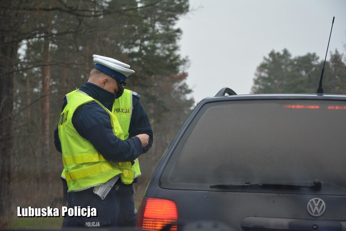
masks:
[[[124,93],[120,98],[114,100],[112,107],[112,113],[118,119],[125,140],[129,137],[129,128],[133,109],[132,95],[131,90],[124,89]],[[132,169],[136,172],[135,178],[141,175],[138,158],[135,160]]]

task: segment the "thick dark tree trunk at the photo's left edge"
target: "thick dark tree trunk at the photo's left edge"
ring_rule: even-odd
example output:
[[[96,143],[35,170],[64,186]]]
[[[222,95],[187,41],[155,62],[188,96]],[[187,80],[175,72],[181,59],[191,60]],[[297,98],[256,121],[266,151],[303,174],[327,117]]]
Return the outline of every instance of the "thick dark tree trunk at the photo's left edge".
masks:
[[[18,40],[16,32],[21,25],[22,15],[8,10],[12,4],[20,6],[21,2],[4,1],[0,14],[0,229],[5,221],[2,217],[9,214],[11,207],[11,154],[13,145],[12,115],[13,115],[13,77],[17,63]]]

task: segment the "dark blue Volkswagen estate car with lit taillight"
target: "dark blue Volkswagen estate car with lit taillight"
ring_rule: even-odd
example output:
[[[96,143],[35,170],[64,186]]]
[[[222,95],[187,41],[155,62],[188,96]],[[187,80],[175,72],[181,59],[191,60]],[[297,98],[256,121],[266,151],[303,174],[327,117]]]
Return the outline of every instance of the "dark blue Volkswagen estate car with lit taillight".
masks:
[[[225,88],[203,99],[158,163],[137,225],[201,220],[234,230],[346,230],[346,95]]]

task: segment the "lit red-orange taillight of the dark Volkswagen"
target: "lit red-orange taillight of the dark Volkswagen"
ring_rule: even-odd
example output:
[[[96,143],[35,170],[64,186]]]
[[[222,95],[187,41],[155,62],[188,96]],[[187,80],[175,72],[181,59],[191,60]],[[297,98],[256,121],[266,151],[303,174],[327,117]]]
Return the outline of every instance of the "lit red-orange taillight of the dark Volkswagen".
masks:
[[[167,224],[171,231],[177,230],[178,208],[167,199],[143,197],[137,216],[137,227],[143,230],[161,230]]]

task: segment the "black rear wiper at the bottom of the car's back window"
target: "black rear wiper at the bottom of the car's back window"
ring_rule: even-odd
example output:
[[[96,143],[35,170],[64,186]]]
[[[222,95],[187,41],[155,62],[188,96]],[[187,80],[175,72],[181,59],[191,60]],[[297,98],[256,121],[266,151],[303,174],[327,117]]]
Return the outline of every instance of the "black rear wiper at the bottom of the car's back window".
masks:
[[[322,185],[319,179],[315,179],[312,181],[276,181],[276,182],[254,182],[254,183],[246,182],[246,183],[227,183],[227,184],[209,185],[210,188],[229,188],[229,187],[245,187],[245,186],[320,189]]]

